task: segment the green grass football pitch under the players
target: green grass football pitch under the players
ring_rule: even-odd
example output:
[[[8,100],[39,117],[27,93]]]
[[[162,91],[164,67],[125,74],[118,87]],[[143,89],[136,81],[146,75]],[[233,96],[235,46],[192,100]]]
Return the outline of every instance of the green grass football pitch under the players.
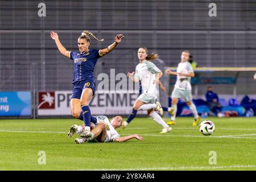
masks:
[[[178,117],[167,134],[151,118],[135,118],[117,131],[142,141],[84,144],[67,137],[71,125],[82,124],[77,119],[2,119],[0,170],[255,170],[256,118],[208,119],[216,126],[210,136],[191,117]],[[46,164],[38,163],[39,151]]]

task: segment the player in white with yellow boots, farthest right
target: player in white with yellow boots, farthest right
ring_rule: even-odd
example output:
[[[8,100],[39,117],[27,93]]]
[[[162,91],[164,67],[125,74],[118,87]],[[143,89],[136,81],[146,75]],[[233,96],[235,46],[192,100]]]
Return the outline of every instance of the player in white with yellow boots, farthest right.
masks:
[[[172,90],[172,109],[171,109],[171,121],[167,122],[168,125],[175,125],[175,118],[176,118],[176,112],[177,112],[177,102],[179,101],[179,98],[184,98],[186,104],[189,106],[189,109],[191,109],[195,121],[193,122],[193,126],[197,125],[197,122],[200,120],[200,116],[197,113],[196,106],[192,102],[192,92],[191,92],[191,77],[195,76],[195,73],[193,72],[193,68],[191,64],[188,62],[189,59],[189,51],[183,51],[181,53],[181,62],[179,63],[177,67],[176,72],[172,72],[167,69],[166,73],[169,75],[176,75],[177,80],[174,85],[174,90]]]

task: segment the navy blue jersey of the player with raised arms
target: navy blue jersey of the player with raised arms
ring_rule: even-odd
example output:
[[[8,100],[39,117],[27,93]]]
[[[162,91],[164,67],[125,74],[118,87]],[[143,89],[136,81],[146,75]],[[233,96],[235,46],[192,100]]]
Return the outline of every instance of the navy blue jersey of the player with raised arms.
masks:
[[[74,61],[74,80],[72,83],[83,80],[94,80],[94,66],[100,58],[99,50],[92,49],[89,52],[71,52],[70,59]]]

